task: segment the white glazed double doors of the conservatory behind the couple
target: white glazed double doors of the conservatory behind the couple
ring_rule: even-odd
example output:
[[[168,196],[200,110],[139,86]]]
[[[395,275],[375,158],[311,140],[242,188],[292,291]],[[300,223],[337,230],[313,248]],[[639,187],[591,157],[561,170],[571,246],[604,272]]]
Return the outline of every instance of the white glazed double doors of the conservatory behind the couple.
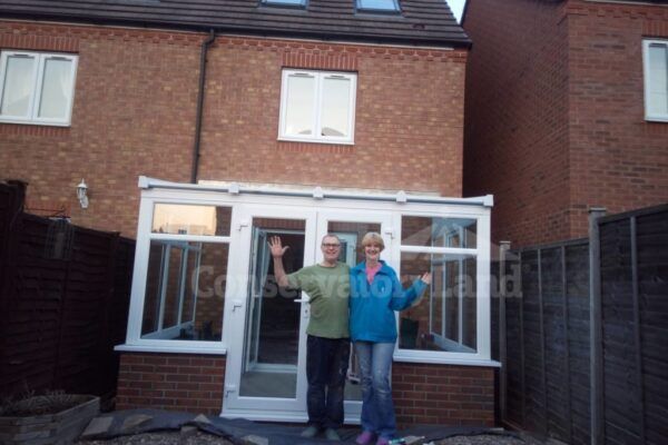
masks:
[[[304,422],[308,295],[282,289],[274,278],[268,239],[288,246],[286,273],[322,261],[322,238],[341,239],[340,260],[363,260],[363,236],[380,233],[392,251],[390,214],[284,206],[239,206],[235,211],[225,308],[227,364],[223,416]],[[234,260],[232,259],[234,258]],[[232,285],[232,287],[229,287]],[[346,422],[358,422],[361,388],[351,354],[345,388]]]

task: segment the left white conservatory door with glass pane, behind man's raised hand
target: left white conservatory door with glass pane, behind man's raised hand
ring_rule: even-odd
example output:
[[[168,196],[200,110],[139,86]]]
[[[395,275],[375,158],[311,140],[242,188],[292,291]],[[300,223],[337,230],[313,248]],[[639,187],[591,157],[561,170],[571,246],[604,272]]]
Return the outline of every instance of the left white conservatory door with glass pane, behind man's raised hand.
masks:
[[[315,261],[315,211],[239,206],[226,301],[228,342],[223,415],[302,422],[306,416],[305,338],[308,307],[274,279],[267,239],[289,246],[287,273]],[[228,294],[229,295],[229,294]]]

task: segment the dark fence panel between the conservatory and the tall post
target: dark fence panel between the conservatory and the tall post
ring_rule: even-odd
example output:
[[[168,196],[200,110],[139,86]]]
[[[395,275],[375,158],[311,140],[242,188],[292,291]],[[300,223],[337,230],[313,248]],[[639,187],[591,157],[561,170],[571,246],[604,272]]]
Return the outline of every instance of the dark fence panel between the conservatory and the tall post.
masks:
[[[571,444],[590,442],[588,255],[578,239],[504,258],[521,291],[507,289],[504,304],[503,421]]]

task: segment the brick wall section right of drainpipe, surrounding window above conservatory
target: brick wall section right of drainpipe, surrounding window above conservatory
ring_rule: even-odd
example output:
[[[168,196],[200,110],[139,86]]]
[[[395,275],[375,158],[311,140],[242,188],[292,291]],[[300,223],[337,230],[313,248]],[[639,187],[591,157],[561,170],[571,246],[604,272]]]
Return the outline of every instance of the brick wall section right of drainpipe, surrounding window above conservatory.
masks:
[[[207,71],[200,176],[461,196],[465,56],[219,38]],[[354,146],[276,140],[281,67],[358,72]]]

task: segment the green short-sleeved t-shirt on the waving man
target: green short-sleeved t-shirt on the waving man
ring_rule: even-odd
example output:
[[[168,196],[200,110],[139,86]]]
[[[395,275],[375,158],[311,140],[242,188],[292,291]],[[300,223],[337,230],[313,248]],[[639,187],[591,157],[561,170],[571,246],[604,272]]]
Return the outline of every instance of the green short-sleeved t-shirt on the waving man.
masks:
[[[325,338],[348,338],[350,267],[313,265],[287,276],[289,287],[308,294],[311,319],[306,334]]]

